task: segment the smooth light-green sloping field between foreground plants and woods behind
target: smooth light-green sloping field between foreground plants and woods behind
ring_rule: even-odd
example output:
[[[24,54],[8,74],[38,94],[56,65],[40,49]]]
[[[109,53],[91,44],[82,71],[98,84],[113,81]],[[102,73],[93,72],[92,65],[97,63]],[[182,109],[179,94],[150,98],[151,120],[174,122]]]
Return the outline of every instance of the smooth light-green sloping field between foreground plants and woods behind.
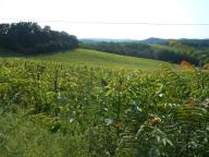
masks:
[[[1,52],[4,57],[9,57],[5,52]],[[25,58],[21,57],[20,58]],[[71,65],[89,65],[111,69],[140,69],[140,70],[159,70],[160,64],[169,64],[162,61],[112,55],[101,51],[76,49],[72,51],[56,52],[50,55],[39,55],[27,57],[27,59],[62,62]]]

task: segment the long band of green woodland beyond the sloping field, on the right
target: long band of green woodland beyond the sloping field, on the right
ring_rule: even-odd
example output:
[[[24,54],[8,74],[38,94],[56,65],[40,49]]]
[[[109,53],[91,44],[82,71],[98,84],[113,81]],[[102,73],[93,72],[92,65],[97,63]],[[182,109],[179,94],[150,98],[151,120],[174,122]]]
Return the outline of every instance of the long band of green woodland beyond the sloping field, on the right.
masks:
[[[193,64],[199,65],[200,58],[197,58],[189,50],[185,50],[182,46],[173,45],[149,45],[139,41],[133,43],[112,43],[112,41],[81,41],[79,47],[94,49],[99,51],[106,51],[116,55],[133,56],[147,59],[156,59],[162,61],[169,61],[172,63],[180,63],[186,60]],[[183,49],[184,48],[184,49]]]

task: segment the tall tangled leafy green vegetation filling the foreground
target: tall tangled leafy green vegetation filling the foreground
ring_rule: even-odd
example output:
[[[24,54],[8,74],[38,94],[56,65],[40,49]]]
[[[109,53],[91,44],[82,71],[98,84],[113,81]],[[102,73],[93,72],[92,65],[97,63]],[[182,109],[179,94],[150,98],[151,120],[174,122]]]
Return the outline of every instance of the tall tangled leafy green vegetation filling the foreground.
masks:
[[[209,156],[209,73],[0,62],[1,156]]]

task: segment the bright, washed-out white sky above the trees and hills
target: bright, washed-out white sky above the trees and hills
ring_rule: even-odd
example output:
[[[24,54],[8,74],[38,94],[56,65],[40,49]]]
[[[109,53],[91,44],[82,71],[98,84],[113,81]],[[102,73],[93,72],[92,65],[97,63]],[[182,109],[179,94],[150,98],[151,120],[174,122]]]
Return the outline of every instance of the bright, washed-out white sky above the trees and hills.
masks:
[[[208,8],[209,0],[0,0],[0,23],[34,21],[78,38],[209,38]]]

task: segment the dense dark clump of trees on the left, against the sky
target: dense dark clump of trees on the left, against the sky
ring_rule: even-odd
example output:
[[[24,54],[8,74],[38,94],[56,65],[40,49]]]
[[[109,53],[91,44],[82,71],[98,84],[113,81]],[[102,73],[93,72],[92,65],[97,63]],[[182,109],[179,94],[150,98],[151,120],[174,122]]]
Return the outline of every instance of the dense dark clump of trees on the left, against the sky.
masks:
[[[20,22],[0,24],[0,47],[24,55],[74,49],[78,46],[76,36],[65,32],[41,28],[37,23]]]

